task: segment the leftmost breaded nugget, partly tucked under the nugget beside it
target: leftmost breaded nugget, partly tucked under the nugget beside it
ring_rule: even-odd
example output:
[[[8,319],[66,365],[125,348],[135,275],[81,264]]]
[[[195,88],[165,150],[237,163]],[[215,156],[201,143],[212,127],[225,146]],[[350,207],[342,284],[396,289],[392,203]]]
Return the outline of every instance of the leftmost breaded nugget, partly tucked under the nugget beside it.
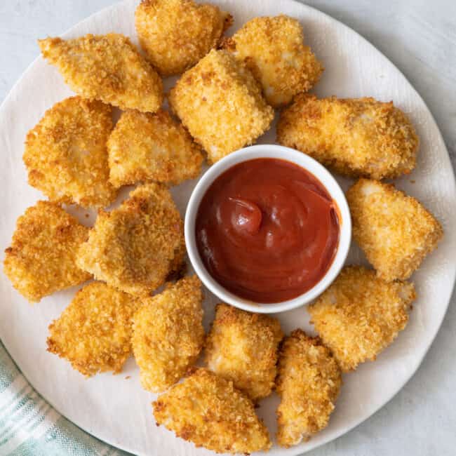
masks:
[[[88,228],[57,203],[38,201],[16,222],[4,272],[22,296],[38,302],[90,279],[76,266],[76,252],[87,237]]]

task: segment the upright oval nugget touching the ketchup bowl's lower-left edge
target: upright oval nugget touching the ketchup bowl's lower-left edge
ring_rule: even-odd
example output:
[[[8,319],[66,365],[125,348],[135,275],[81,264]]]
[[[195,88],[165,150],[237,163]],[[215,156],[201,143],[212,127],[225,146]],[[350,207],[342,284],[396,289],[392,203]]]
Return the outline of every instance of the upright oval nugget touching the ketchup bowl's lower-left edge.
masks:
[[[147,391],[165,391],[185,375],[203,347],[201,281],[185,277],[149,297],[133,321],[133,354]]]

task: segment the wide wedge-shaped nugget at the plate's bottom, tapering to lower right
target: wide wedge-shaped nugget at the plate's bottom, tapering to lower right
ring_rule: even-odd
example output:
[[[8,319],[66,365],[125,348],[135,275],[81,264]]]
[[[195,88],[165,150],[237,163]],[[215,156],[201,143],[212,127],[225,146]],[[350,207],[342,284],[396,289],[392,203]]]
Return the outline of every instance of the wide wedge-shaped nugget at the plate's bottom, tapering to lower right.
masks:
[[[215,452],[250,453],[271,447],[253,403],[232,382],[196,369],[153,404],[156,424]]]

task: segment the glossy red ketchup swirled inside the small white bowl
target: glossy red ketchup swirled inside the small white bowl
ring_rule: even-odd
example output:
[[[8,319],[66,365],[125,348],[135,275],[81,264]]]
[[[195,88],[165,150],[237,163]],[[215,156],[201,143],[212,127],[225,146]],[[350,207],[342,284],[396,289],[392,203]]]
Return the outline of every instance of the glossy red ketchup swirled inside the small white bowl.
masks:
[[[286,301],[316,285],[334,260],[339,234],[326,188],[281,159],[229,168],[196,215],[196,245],[209,274],[254,302]]]

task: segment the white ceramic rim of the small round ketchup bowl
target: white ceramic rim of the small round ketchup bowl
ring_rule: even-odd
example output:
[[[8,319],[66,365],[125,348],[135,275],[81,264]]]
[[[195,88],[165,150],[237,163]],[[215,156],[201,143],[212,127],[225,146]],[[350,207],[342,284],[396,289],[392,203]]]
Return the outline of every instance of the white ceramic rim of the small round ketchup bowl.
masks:
[[[337,246],[337,253],[334,257],[333,263],[331,264],[326,274],[323,276],[321,281],[316,283],[316,285],[307,290],[306,293],[299,295],[291,300],[286,300],[282,302],[275,303],[262,303],[262,302],[253,302],[250,300],[243,299],[242,297],[236,296],[233,293],[229,292],[226,288],[220,285],[213,276],[209,274],[206,267],[201,260],[199,255],[198,248],[196,246],[196,232],[195,232],[195,222],[196,215],[198,214],[199,205],[201,199],[206,194],[208,188],[214,180],[217,179],[221,174],[223,174],[229,168],[241,163],[243,161],[249,161],[253,159],[282,159],[295,163],[298,166],[301,166],[305,170],[313,174],[326,189],[328,193],[337,203],[338,207],[338,216],[340,223],[340,237],[339,245]],[[310,156],[298,152],[295,149],[290,149],[289,147],[283,147],[279,145],[255,145],[250,147],[244,147],[239,149],[232,154],[225,156],[220,161],[217,161],[215,165],[211,166],[206,173],[201,177],[198,184],[190,196],[189,203],[187,206],[187,212],[185,213],[185,243],[187,244],[187,253],[189,255],[190,261],[198,274],[201,281],[204,285],[217,297],[220,298],[223,302],[232,304],[239,309],[248,310],[251,312],[260,312],[262,314],[272,314],[276,312],[282,312],[286,310],[295,309],[304,304],[307,304],[314,300],[318,295],[323,293],[328,286],[333,282],[333,280],[339,274],[340,269],[344,265],[345,259],[350,247],[351,241],[351,218],[350,211],[345,199],[344,192],[337,184],[335,178],[329,173],[329,171],[321,166],[318,161],[311,159]]]

